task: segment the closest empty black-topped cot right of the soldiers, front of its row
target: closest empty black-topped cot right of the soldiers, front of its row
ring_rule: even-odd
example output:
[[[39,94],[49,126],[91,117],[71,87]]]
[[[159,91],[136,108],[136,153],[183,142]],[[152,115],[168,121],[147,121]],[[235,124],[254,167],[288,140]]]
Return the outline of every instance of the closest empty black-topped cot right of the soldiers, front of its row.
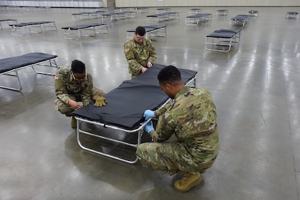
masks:
[[[218,52],[229,52],[231,47],[240,40],[240,30],[220,29],[206,36],[205,49]],[[224,47],[225,49],[221,49]]]

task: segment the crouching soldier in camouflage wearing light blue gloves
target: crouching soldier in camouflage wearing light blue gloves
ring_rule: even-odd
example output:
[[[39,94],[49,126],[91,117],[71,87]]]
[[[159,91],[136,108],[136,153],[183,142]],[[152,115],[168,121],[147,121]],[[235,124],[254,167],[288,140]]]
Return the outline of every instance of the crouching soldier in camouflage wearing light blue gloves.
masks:
[[[154,142],[139,145],[136,155],[145,167],[169,175],[183,174],[174,187],[186,192],[203,180],[200,173],[212,166],[219,153],[216,107],[209,91],[184,86],[180,71],[174,66],[162,69],[157,77],[161,89],[174,102],[144,112],[145,120],[154,117],[159,120],[156,130],[152,121],[145,125]],[[177,140],[163,142],[172,134]]]

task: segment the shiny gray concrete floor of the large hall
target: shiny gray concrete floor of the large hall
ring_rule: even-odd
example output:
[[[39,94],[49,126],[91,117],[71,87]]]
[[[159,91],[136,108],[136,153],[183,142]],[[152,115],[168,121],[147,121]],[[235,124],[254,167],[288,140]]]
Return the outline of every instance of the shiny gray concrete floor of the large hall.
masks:
[[[203,183],[176,192],[179,176],[82,150],[70,118],[54,111],[54,77],[26,68],[19,71],[22,92],[0,89],[0,199],[299,199],[300,21],[286,20],[285,13],[300,8],[230,7],[227,16],[217,16],[218,9],[203,7],[212,21],[186,26],[189,8],[171,8],[180,20],[164,22],[167,38],[153,41],[158,63],[197,70],[197,86],[214,98],[221,150]],[[71,13],[93,10],[0,8],[0,19],[51,20],[58,27],[12,36],[3,24],[0,58],[44,52],[58,55],[58,66],[79,59],[95,86],[111,91],[130,78],[126,31],[146,25],[148,13],[108,22],[109,36],[65,40],[61,27],[99,21],[74,22]],[[230,28],[230,18],[248,10],[259,10],[259,16],[242,30],[238,47],[205,52],[205,36]],[[1,84],[13,85],[10,78],[1,76]]]

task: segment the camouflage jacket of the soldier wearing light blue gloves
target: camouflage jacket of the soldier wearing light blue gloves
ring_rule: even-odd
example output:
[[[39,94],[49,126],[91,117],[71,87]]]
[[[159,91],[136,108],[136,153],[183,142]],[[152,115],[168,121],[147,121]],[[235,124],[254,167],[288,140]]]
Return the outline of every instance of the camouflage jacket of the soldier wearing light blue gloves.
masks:
[[[177,153],[183,160],[199,165],[214,161],[219,153],[219,133],[216,107],[209,91],[184,87],[173,103],[155,113],[159,121],[151,132],[153,141],[166,141],[175,133]]]

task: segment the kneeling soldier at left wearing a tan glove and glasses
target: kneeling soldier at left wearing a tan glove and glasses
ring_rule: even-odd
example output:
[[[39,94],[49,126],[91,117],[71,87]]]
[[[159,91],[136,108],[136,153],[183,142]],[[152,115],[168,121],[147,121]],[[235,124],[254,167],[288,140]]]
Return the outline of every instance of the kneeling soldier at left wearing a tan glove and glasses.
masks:
[[[71,116],[72,111],[81,108],[79,102],[85,106],[95,100],[95,106],[106,105],[106,99],[102,96],[104,91],[93,87],[93,78],[86,72],[86,66],[81,61],[74,60],[71,68],[63,66],[57,70],[55,91],[55,109],[65,116]],[[71,126],[76,128],[74,116]]]

